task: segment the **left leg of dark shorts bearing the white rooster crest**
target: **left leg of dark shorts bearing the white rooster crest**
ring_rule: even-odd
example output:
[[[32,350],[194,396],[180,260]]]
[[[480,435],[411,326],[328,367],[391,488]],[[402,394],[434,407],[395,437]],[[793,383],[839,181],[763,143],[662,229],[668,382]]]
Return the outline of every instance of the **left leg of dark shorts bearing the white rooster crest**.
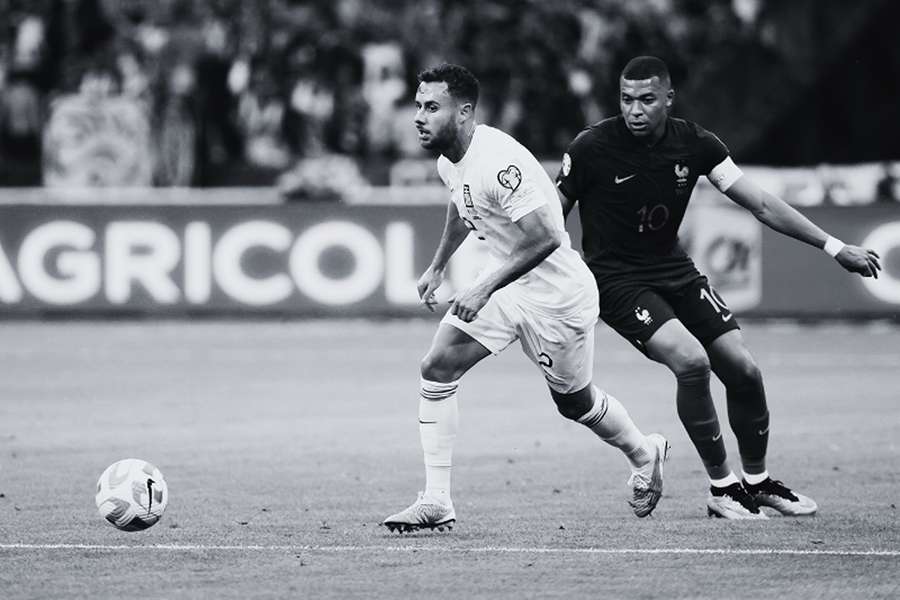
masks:
[[[600,293],[600,318],[646,354],[647,342],[676,317],[668,300],[656,291],[622,286]]]

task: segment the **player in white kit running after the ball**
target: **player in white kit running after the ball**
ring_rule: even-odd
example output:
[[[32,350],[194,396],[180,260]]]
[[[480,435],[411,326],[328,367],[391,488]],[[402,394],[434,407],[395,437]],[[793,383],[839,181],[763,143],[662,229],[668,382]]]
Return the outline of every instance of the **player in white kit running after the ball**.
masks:
[[[662,496],[668,443],[659,434],[644,436],[618,400],[592,385],[596,283],[570,245],[549,175],[512,137],[475,123],[477,101],[478,81],[463,67],[444,64],[419,75],[419,142],[441,153],[438,172],[452,197],[441,241],[418,281],[419,297],[434,310],[447,262],[467,236],[487,244],[490,260],[452,300],[422,360],[425,491],[383,525],[402,533],[455,523],[450,467],[459,379],[516,340],[543,371],[559,412],[626,456],[629,504],[647,516]]]

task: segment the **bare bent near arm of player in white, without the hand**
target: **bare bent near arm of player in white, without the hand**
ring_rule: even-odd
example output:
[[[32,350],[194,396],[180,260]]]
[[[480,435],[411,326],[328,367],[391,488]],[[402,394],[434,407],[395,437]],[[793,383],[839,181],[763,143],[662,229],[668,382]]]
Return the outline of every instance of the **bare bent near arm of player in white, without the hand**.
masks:
[[[516,221],[516,227],[524,234],[522,239],[513,247],[506,264],[484,281],[491,294],[535,268],[562,243],[549,206],[541,206],[523,216]]]

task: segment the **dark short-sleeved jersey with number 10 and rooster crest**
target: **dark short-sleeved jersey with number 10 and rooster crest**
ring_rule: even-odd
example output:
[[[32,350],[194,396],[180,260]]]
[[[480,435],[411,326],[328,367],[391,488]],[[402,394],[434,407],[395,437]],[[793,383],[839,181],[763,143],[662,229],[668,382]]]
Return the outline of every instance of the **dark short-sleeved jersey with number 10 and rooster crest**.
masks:
[[[696,276],[678,228],[697,178],[727,156],[719,138],[684,119],[669,117],[652,147],[621,116],[582,131],[563,156],[557,185],[578,201],[584,258],[597,283]]]

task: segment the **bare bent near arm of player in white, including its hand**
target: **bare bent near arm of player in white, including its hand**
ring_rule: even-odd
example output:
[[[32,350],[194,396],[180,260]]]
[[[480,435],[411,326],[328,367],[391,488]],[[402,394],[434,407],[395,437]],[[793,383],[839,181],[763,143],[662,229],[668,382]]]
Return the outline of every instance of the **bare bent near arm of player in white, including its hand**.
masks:
[[[535,268],[562,243],[562,237],[553,226],[549,206],[531,211],[516,221],[516,226],[524,235],[513,247],[509,260],[453,300],[451,312],[463,321],[474,321],[491,294]]]

